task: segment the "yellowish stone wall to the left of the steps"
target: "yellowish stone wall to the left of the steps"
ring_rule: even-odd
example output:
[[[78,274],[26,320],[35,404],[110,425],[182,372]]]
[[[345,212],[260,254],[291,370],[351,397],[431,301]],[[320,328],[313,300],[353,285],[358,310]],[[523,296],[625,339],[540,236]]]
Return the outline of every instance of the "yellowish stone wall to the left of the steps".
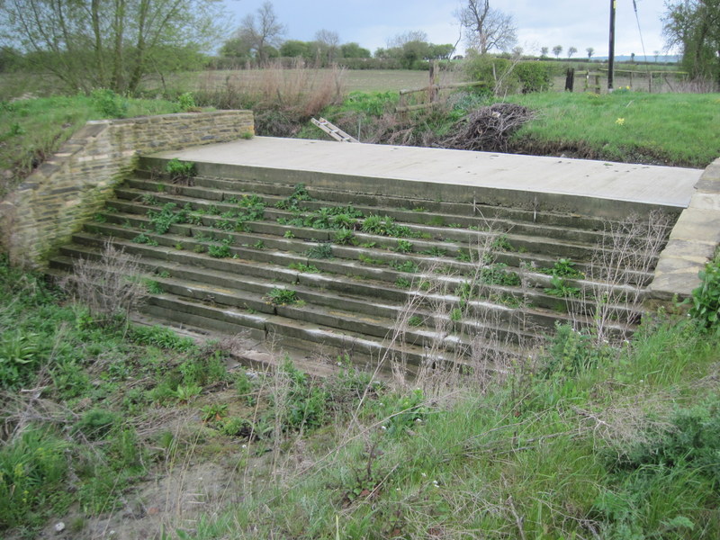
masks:
[[[14,265],[42,266],[103,207],[140,153],[226,142],[253,132],[250,111],[88,121],[0,202],[2,247]]]

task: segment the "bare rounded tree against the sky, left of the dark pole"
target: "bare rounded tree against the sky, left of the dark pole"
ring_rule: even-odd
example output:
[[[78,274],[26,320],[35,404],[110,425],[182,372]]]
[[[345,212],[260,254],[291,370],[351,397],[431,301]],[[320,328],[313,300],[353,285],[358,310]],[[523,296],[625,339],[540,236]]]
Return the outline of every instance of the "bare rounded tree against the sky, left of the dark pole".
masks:
[[[512,15],[491,8],[490,0],[467,0],[457,13],[467,31],[468,47],[487,54],[491,49],[509,50],[518,41],[518,28]]]

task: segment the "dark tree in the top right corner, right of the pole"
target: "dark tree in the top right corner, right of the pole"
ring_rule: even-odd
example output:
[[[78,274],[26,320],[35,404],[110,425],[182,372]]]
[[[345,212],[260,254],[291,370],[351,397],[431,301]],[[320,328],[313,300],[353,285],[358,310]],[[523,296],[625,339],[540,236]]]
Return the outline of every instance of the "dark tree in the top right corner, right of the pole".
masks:
[[[668,49],[679,48],[693,77],[720,83],[720,0],[682,0],[667,4],[662,19]]]

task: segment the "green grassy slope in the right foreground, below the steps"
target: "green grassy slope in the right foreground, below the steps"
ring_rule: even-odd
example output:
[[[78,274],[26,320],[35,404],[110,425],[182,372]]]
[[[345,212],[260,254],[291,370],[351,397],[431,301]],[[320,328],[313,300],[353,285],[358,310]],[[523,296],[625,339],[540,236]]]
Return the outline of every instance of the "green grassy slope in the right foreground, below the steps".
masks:
[[[673,348],[683,335],[693,336],[689,348]],[[555,348],[568,350],[572,336],[560,334]],[[645,349],[656,339],[662,360]],[[701,455],[720,445],[716,386],[693,393],[719,353],[689,326],[661,324],[619,356],[586,365],[564,357],[539,376],[521,369],[484,394],[382,392],[331,448],[313,453],[317,437],[306,439],[310,465],[286,468],[282,485],[254,482],[242,505],[196,537],[714,537],[716,481]],[[661,365],[672,366],[667,378],[649,382],[645,370]],[[703,442],[675,446],[703,430]]]

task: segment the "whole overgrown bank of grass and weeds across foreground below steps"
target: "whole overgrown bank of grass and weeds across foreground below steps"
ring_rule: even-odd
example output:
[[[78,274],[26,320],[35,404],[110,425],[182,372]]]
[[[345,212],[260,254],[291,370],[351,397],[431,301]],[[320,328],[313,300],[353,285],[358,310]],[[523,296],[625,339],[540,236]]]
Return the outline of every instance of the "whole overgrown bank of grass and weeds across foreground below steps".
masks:
[[[127,327],[3,263],[0,533],[717,537],[713,268],[697,320],[617,347],[559,327],[500,374],[381,381],[347,357],[326,380],[233,367],[237,340]]]

